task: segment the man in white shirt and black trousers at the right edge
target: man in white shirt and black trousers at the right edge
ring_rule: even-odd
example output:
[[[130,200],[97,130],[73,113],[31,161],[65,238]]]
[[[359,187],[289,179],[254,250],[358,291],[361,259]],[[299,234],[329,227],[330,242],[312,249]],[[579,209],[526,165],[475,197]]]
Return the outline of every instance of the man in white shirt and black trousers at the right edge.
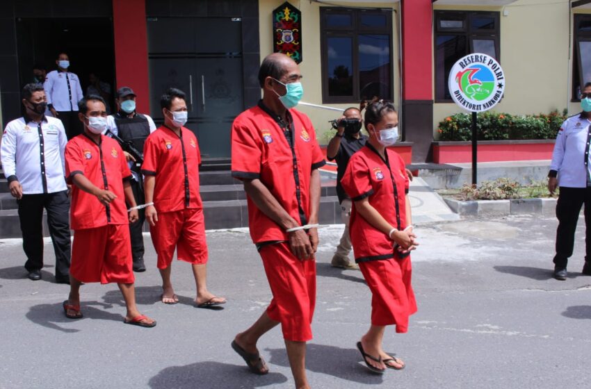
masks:
[[[581,93],[583,111],[569,117],[560,126],[556,137],[552,163],[548,174],[550,193],[560,185],[556,204],[558,230],[556,231],[556,256],[554,278],[567,279],[567,261],[572,256],[576,222],[585,204],[585,265],[583,274],[591,276],[591,83],[586,83]]]

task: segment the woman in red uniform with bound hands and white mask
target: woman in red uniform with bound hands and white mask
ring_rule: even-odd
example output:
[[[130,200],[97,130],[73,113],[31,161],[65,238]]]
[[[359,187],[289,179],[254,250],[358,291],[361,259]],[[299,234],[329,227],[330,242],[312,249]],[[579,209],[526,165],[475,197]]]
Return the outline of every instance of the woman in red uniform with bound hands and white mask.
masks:
[[[355,262],[373,295],[371,326],[357,348],[371,371],[383,373],[405,367],[384,352],[382,338],[387,325],[405,333],[408,317],[416,312],[409,253],[418,243],[412,232],[405,163],[387,149],[398,139],[396,108],[377,101],[366,108],[364,119],[369,140],[351,157],[341,184],[353,199],[349,229]]]

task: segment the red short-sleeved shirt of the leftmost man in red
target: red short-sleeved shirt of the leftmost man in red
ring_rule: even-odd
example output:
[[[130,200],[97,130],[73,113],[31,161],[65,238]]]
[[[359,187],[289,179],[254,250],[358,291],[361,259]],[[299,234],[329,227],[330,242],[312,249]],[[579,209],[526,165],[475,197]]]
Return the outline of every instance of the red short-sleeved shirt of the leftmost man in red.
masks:
[[[129,224],[123,181],[131,179],[131,171],[118,142],[104,135],[99,144],[86,134],[72,138],[65,146],[67,183],[71,184],[76,174],[83,174],[97,188],[110,190],[117,198],[104,206],[96,196],[72,185],[70,225],[73,230]]]

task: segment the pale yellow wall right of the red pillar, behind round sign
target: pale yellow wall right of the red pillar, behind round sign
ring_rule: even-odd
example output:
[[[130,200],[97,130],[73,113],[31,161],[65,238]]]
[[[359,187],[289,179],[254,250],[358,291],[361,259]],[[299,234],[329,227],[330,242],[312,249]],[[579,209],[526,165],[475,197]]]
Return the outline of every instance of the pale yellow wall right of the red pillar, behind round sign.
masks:
[[[495,10],[501,13],[500,63],[507,83],[504,99],[493,110],[524,115],[549,113],[567,107],[573,109],[572,105],[569,106],[572,48],[568,0],[519,0],[505,7],[435,5],[434,9]],[[507,16],[503,16],[503,9],[508,12]],[[434,135],[442,119],[458,112],[462,110],[453,103],[435,104]]]

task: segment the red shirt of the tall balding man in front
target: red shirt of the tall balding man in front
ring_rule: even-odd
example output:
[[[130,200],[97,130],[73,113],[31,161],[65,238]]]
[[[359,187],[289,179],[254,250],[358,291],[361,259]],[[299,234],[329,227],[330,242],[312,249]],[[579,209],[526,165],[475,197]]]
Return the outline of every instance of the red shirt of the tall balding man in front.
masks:
[[[232,125],[232,176],[260,179],[294,220],[308,223],[310,175],[325,164],[310,119],[291,109],[288,124],[259,105]],[[248,197],[248,224],[254,243],[287,240],[283,229]]]

